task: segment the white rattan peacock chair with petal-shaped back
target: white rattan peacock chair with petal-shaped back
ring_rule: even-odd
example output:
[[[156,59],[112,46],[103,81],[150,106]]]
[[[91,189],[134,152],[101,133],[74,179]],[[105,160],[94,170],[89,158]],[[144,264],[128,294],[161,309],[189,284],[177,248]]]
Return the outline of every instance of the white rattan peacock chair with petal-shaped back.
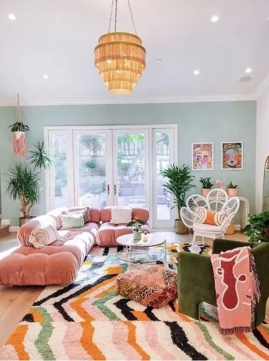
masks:
[[[222,189],[212,189],[206,198],[200,194],[191,195],[187,199],[186,207],[181,208],[180,217],[186,227],[193,229],[192,249],[197,236],[202,237],[202,242],[204,242],[204,237],[225,239],[224,233],[227,231],[232,219],[236,215],[239,204],[239,198],[228,198],[227,193]],[[228,216],[224,217],[220,226],[213,226],[194,222],[195,210],[197,207],[210,209],[216,212],[223,210],[228,210],[229,212],[227,212]]]

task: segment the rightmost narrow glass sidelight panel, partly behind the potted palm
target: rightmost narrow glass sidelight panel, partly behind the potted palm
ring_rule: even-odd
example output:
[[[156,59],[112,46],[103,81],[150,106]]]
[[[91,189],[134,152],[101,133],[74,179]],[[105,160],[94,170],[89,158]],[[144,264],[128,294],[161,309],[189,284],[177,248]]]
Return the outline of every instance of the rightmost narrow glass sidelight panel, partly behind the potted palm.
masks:
[[[173,129],[153,129],[153,213],[154,228],[171,228],[174,223],[173,197],[163,186],[161,172],[174,162]]]

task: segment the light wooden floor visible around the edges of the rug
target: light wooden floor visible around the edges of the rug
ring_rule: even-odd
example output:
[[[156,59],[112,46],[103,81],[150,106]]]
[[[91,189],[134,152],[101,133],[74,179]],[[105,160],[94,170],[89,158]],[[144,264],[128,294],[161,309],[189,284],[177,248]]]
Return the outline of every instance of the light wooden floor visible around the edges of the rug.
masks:
[[[158,232],[159,233],[159,232]],[[178,236],[174,232],[160,232],[167,241],[189,242],[192,235]],[[241,232],[228,237],[229,240],[247,241]],[[206,240],[212,246],[212,240]],[[18,243],[16,234],[10,233],[0,238],[0,259],[11,253]],[[0,286],[0,347],[8,339],[19,321],[27,313],[44,287],[4,287]],[[267,308],[269,310],[269,307]],[[268,313],[267,313],[268,314]]]

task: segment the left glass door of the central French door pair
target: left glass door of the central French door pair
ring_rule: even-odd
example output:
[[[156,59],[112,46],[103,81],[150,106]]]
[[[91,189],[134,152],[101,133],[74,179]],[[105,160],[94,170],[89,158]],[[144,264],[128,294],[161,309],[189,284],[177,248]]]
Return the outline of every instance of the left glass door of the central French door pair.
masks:
[[[110,130],[74,131],[76,205],[103,208],[111,204],[111,153]]]

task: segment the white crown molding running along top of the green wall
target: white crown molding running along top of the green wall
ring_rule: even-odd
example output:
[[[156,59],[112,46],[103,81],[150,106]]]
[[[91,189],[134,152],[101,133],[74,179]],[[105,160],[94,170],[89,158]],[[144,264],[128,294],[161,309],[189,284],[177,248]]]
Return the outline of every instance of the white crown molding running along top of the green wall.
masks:
[[[48,106],[48,105],[97,105],[97,104],[151,104],[151,103],[201,103],[201,102],[231,102],[256,100],[255,94],[226,94],[177,97],[108,97],[108,98],[81,98],[81,99],[48,99],[26,100],[21,99],[21,106]],[[14,100],[0,101],[0,107],[15,106]]]

